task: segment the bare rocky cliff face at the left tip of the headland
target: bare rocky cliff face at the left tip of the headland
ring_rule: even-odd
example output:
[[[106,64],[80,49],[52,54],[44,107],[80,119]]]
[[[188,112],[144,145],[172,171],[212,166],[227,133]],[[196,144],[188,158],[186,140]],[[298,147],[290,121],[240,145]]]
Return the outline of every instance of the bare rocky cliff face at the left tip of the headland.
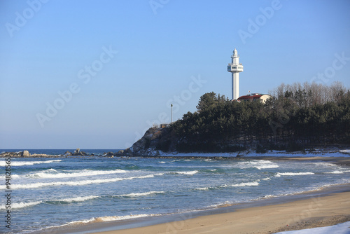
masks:
[[[175,142],[171,128],[150,128],[144,137],[122,154],[124,156],[158,156],[160,151],[175,151]]]

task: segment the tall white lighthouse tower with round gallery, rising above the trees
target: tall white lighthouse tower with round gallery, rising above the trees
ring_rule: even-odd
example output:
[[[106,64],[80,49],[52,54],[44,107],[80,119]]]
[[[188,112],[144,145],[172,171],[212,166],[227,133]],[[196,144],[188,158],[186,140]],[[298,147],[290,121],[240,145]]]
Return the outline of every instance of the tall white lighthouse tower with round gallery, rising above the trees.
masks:
[[[232,73],[232,99],[237,100],[239,97],[239,72],[243,71],[243,66],[239,63],[239,55],[237,50],[233,50],[231,56],[232,63],[228,64],[228,72]]]

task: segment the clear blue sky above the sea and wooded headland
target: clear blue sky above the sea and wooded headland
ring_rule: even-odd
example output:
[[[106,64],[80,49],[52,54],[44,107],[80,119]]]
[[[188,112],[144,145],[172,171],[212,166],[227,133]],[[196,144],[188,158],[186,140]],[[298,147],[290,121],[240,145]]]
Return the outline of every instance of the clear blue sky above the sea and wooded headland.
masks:
[[[1,1],[0,149],[125,149],[205,92],[350,88],[350,1]],[[321,75],[318,75],[321,74]],[[323,74],[323,76],[322,76]]]

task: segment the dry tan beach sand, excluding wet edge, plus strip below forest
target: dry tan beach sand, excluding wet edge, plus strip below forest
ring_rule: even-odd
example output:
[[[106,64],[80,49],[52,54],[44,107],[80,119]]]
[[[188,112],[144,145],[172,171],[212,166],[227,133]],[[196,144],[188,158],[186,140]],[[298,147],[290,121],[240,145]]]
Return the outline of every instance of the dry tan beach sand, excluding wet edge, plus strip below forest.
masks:
[[[268,160],[323,160],[349,165],[349,158],[268,158]],[[99,234],[134,233],[276,233],[332,226],[350,221],[350,184],[346,191],[314,195],[311,198],[237,209],[235,212],[198,216],[184,221],[173,221],[141,228],[112,230]]]

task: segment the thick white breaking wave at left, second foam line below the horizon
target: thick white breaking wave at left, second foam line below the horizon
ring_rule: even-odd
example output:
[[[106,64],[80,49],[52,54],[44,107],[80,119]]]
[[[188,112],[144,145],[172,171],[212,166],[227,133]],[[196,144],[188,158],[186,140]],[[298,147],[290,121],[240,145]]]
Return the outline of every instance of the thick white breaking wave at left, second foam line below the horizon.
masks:
[[[53,173],[52,173],[53,172]],[[111,170],[111,171],[99,171],[99,170],[83,170],[81,172],[69,172],[69,173],[60,173],[57,172],[57,170],[45,170],[43,172],[37,172],[34,174],[26,174],[20,177],[32,177],[32,178],[67,178],[67,177],[89,177],[89,176],[96,176],[96,175],[102,175],[102,174],[119,174],[119,173],[125,173],[127,171],[125,170]]]

